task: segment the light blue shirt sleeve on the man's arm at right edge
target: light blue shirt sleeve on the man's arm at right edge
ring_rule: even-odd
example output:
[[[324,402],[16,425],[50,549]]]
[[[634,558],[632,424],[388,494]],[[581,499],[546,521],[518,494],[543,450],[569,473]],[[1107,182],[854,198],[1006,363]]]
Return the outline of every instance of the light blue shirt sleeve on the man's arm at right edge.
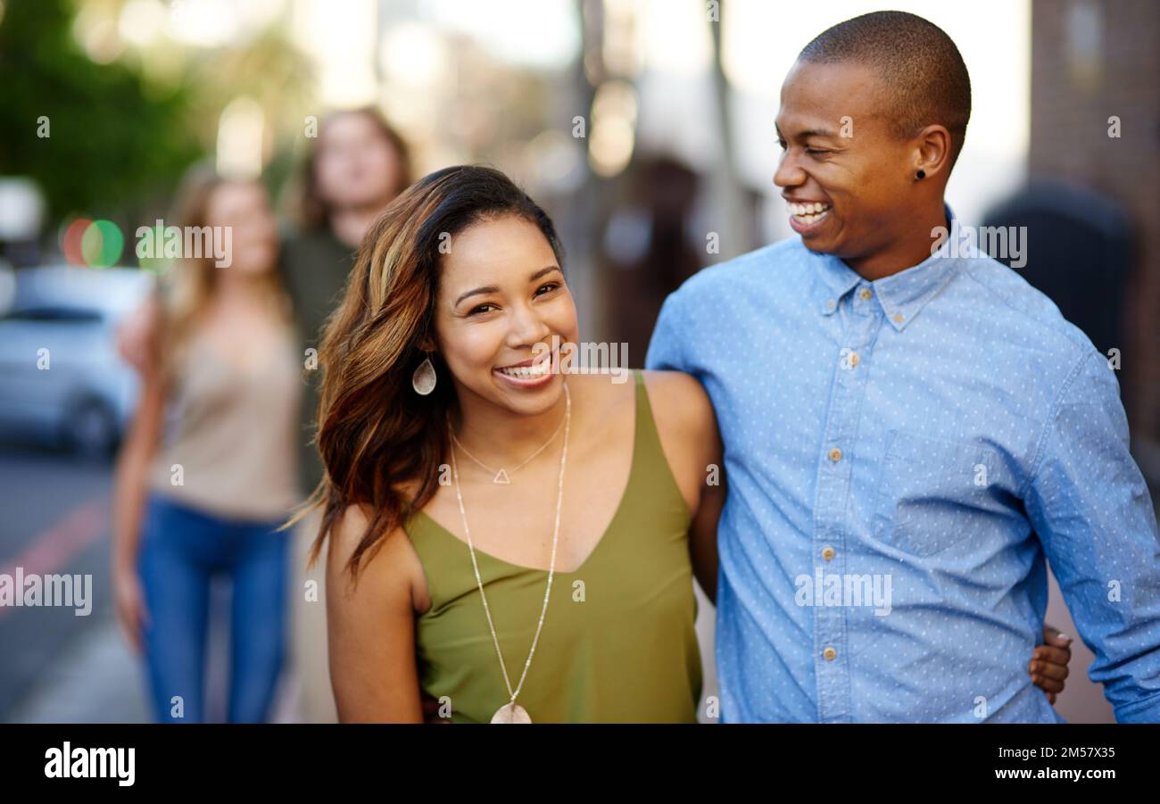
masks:
[[[1043,434],[1028,516],[1121,723],[1160,722],[1160,542],[1119,385],[1094,348]]]

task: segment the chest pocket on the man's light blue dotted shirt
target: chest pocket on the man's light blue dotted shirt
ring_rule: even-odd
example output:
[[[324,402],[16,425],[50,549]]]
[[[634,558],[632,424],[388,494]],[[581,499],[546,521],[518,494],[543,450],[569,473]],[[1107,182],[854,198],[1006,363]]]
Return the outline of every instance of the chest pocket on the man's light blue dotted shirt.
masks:
[[[875,505],[875,537],[927,558],[970,539],[998,471],[979,444],[891,430]]]

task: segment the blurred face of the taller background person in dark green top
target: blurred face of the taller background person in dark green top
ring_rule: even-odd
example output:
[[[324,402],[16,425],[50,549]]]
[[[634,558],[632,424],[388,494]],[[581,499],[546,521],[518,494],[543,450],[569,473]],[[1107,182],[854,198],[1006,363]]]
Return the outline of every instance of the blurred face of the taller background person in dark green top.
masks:
[[[316,181],[333,207],[385,207],[399,184],[399,154],[367,115],[328,121],[318,143]]]

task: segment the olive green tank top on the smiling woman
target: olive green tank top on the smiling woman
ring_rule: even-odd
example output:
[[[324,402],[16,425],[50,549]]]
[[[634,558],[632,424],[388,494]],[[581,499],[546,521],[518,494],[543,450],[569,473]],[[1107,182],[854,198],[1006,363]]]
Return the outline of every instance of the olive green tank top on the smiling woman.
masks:
[[[635,374],[629,483],[585,563],[552,579],[539,643],[516,700],[534,723],[697,720],[691,515],[661,451],[644,378]],[[487,723],[509,695],[467,544],[422,512],[405,530],[432,600],[415,623],[420,686],[436,698],[450,697],[454,722]],[[548,572],[479,549],[476,558],[514,688],[536,633]]]

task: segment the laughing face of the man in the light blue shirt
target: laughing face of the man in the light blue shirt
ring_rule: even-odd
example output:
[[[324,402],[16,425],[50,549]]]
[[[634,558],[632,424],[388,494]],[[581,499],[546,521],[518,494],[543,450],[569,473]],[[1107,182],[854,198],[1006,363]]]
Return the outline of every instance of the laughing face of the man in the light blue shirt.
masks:
[[[798,61],[782,85],[774,183],[812,251],[857,261],[913,227],[914,144],[891,133],[884,96],[872,68],[856,63]]]

